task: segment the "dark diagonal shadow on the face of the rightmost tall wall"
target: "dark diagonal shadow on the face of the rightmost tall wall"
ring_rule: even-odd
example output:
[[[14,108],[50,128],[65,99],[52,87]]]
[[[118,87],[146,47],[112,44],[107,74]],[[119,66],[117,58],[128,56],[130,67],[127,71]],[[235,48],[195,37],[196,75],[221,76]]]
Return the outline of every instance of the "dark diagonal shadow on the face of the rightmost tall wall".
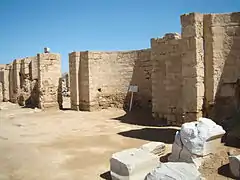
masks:
[[[240,24],[239,13],[231,14],[231,22]],[[228,26],[228,31],[233,27]],[[230,29],[232,28],[232,29]],[[228,32],[229,33],[229,32]],[[229,39],[228,39],[229,38]],[[224,67],[217,87],[215,102],[207,110],[207,116],[221,123],[224,120],[230,120],[238,114],[240,107],[240,26],[234,29],[229,37],[224,37],[223,45],[229,46],[224,50],[228,56],[224,62]]]

